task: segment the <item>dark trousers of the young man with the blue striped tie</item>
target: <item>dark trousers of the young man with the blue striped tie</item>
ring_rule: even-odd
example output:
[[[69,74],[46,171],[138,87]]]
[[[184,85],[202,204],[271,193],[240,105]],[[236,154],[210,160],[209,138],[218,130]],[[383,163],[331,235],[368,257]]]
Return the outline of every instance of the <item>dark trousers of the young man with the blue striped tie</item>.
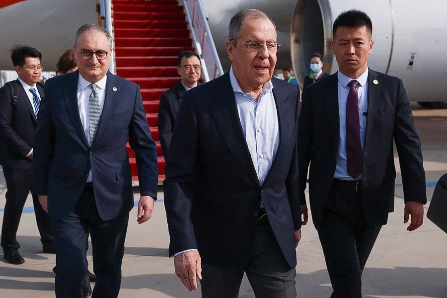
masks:
[[[4,252],[17,251],[20,244],[17,242],[17,229],[22,216],[23,206],[31,190],[33,182],[32,168],[27,170],[3,167],[6,180],[6,204],[4,206],[3,224],[1,226],[1,247]],[[33,197],[34,213],[43,246],[53,245],[53,233],[48,213],[43,210],[37,196]]]

